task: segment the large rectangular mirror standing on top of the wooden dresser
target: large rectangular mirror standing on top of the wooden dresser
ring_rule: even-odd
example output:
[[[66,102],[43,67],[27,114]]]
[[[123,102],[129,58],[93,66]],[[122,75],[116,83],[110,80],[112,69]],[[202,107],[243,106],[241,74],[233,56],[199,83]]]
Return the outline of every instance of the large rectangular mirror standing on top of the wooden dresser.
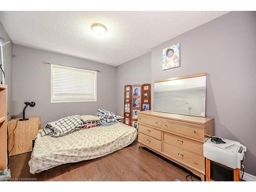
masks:
[[[206,73],[155,81],[153,111],[205,117]]]

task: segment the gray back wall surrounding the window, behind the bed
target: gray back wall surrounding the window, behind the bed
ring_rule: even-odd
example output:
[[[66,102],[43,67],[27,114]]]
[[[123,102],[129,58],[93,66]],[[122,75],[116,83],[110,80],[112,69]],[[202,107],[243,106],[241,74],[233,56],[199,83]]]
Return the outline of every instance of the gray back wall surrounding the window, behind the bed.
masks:
[[[25,101],[36,102],[26,116],[41,116],[42,127],[69,115],[94,115],[99,108],[115,112],[115,67],[19,45],[13,45],[13,55],[12,115],[21,115]],[[50,66],[42,61],[102,71],[97,74],[97,102],[51,103]]]

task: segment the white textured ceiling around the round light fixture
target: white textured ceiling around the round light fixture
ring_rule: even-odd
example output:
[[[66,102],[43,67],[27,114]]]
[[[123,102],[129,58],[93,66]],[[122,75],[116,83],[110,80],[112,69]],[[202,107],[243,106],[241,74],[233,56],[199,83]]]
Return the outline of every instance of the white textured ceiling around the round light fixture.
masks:
[[[0,21],[14,44],[118,66],[151,48],[227,12],[0,12]],[[90,26],[108,28],[102,36]]]

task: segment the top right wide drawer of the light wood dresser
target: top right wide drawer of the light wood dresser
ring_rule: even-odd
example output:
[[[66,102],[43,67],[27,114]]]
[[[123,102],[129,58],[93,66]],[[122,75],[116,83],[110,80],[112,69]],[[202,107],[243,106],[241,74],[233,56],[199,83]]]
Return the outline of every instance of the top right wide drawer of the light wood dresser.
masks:
[[[163,119],[164,130],[204,141],[204,126],[182,121]]]

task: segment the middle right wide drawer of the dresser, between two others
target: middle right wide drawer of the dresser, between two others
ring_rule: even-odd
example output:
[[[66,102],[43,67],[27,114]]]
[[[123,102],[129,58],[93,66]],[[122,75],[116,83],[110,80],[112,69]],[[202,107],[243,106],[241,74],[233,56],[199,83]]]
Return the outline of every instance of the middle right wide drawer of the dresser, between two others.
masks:
[[[203,156],[203,143],[164,132],[164,142]]]

